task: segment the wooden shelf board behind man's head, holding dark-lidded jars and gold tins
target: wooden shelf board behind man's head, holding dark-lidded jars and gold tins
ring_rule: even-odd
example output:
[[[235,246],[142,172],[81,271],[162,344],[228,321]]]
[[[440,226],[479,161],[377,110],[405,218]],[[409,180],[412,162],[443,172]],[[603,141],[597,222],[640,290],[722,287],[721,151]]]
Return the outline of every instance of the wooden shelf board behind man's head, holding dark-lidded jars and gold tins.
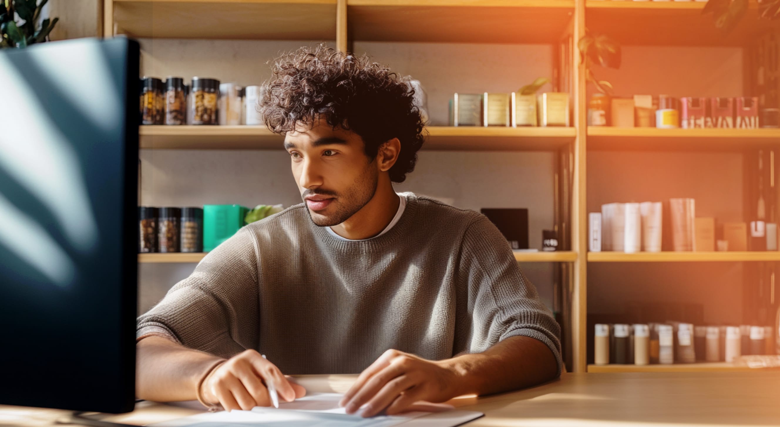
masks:
[[[573,142],[574,128],[429,126],[423,150],[548,151]],[[140,148],[282,150],[284,136],[265,126],[140,126]]]

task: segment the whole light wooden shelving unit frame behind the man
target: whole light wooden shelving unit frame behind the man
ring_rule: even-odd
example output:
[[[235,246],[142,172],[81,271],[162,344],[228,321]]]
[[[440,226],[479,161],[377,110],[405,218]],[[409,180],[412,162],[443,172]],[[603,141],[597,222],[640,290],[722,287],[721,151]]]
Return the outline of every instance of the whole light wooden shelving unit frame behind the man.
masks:
[[[569,92],[571,128],[453,128],[431,126],[423,150],[548,151],[567,158],[569,179],[558,175],[558,217],[565,217],[570,250],[516,252],[519,262],[560,263],[566,277],[571,370],[622,367],[587,365],[588,263],[777,262],[780,252],[640,253],[587,252],[587,154],[599,150],[728,151],[780,143],[769,129],[618,129],[587,127],[584,65],[576,41],[585,28],[607,33],[623,45],[743,46],[780,21],[757,17],[750,3],[743,22],[722,37],[704,2],[614,0],[100,0],[103,34],[132,37],[335,41],[348,51],[353,41],[551,44],[558,83]],[[561,54],[566,52],[566,55]],[[560,54],[560,55],[558,55]],[[142,126],[140,146],[151,150],[281,150],[283,137],[258,126]],[[569,157],[570,156],[570,157]],[[563,162],[558,162],[563,163]],[[562,182],[565,182],[562,183]],[[565,189],[566,191],[561,191]],[[566,197],[564,200],[563,198]],[[569,209],[563,210],[563,206]],[[567,212],[568,215],[562,214]],[[559,223],[560,224],[560,223]],[[140,263],[197,263],[203,254],[141,254]],[[683,371],[717,365],[672,365]],[[644,367],[648,372],[662,368]],[[604,371],[601,371],[604,372]],[[625,371],[624,371],[625,372]]]

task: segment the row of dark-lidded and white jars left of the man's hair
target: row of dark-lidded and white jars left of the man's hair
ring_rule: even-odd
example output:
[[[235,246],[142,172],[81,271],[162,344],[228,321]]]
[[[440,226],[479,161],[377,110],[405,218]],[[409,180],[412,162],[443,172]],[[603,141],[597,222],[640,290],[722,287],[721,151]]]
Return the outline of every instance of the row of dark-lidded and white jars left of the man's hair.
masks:
[[[182,77],[141,79],[142,125],[261,125],[257,104],[261,86],[220,83],[218,79]]]

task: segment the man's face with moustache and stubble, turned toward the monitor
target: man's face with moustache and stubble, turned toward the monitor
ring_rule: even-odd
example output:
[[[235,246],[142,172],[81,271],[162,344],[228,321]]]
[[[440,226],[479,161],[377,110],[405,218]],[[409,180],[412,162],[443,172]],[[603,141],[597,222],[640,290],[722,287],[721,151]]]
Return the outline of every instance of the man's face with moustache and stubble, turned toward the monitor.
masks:
[[[363,139],[354,132],[334,130],[321,119],[311,129],[287,132],[285,150],[311,221],[320,227],[348,220],[377,191],[377,159],[369,161]],[[309,197],[327,199],[318,202]]]

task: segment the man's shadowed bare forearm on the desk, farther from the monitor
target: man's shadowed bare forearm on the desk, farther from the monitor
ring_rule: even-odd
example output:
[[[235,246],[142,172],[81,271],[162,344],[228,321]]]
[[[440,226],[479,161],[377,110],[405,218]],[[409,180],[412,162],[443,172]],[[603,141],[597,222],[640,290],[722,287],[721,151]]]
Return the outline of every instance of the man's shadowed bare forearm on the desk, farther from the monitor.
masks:
[[[461,381],[457,395],[492,394],[544,383],[558,372],[550,348],[531,337],[509,337],[482,353],[441,361]]]

